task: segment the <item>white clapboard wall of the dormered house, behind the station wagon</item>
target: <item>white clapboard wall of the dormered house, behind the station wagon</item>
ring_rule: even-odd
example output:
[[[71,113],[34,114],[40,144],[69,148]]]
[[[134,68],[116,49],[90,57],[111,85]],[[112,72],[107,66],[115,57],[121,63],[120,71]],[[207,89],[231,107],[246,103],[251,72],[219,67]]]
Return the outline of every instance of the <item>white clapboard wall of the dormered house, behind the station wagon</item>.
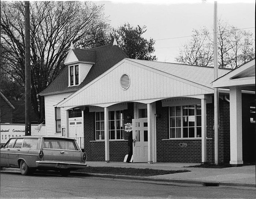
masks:
[[[67,98],[71,93],[54,94],[45,96],[45,126],[46,135],[61,136],[61,133],[56,133],[55,129],[55,109],[57,103]],[[61,109],[61,125],[66,125],[66,111]]]

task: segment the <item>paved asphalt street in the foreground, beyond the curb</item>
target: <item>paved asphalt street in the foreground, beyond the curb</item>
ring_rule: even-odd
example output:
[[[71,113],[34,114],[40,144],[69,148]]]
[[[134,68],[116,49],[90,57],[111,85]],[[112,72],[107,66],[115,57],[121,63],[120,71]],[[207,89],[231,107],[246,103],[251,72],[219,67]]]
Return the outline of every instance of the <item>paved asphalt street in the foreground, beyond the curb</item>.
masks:
[[[58,173],[1,173],[2,198],[98,198],[98,199],[157,199],[157,198],[252,198],[253,189],[177,186],[152,184],[97,177],[69,176]]]

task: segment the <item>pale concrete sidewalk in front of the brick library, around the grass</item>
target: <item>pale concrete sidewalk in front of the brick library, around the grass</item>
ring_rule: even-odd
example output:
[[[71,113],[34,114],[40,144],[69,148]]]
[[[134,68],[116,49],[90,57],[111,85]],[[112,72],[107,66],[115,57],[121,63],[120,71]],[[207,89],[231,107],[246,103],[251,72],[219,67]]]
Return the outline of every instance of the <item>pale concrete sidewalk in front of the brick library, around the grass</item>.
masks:
[[[155,181],[162,183],[195,184],[204,186],[226,186],[243,187],[255,189],[255,165],[229,167],[223,169],[211,168],[187,168],[184,166],[198,165],[199,163],[126,163],[126,162],[86,162],[91,167],[122,167],[122,168],[149,168],[157,170],[189,170],[186,173],[174,173],[167,175],[157,175],[151,177],[120,176],[107,174],[90,174],[90,176],[108,177],[115,179],[133,179],[140,181]],[[19,172],[18,169],[2,168],[1,172]]]

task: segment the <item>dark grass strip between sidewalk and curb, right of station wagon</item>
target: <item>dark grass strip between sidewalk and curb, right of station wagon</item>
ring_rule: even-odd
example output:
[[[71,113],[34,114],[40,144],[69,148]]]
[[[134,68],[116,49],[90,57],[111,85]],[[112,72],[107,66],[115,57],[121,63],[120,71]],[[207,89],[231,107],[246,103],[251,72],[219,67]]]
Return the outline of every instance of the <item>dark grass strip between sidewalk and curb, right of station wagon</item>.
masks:
[[[154,170],[154,169],[136,169],[136,168],[121,168],[121,167],[91,167],[83,170],[77,170],[83,173],[100,173],[100,174],[112,174],[112,175],[131,175],[131,176],[154,176],[165,175],[173,173],[189,172],[188,170],[166,171],[166,170]]]

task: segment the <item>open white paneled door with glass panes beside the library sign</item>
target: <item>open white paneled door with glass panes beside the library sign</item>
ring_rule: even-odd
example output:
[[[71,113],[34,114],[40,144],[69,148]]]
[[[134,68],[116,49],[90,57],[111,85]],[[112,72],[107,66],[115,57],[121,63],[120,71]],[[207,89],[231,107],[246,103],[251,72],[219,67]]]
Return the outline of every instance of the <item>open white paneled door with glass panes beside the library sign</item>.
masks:
[[[148,162],[148,120],[132,120],[133,162]]]

